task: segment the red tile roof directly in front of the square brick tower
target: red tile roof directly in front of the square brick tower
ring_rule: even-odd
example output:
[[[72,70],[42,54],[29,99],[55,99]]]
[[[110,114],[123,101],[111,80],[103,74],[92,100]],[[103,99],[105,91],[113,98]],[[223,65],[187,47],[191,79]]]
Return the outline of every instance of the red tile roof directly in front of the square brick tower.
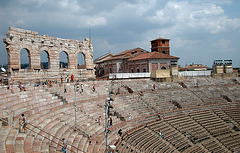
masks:
[[[129,59],[129,61],[134,61],[134,60],[142,60],[142,59],[163,59],[163,58],[175,58],[175,59],[179,59],[179,57],[175,57],[175,56],[170,56],[168,54],[163,54],[163,53],[159,53],[159,52],[150,52],[150,53],[145,53],[145,54],[141,54],[139,56],[133,57],[131,59]]]

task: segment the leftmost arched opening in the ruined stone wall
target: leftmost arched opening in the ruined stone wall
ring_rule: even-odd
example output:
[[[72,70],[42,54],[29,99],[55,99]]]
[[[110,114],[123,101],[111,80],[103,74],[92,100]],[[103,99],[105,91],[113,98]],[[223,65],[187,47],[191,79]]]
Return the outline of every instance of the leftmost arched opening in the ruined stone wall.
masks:
[[[29,51],[26,48],[21,49],[20,65],[21,65],[21,69],[30,68],[30,55],[29,55]]]

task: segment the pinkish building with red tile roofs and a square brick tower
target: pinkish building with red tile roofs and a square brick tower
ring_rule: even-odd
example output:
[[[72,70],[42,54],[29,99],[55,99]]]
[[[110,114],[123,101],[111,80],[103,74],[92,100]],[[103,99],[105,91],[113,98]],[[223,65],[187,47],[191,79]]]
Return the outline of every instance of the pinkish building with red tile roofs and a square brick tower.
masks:
[[[110,73],[151,73],[156,70],[169,70],[169,76],[177,75],[179,57],[170,55],[169,41],[170,39],[158,38],[151,41],[151,52],[138,47],[105,59],[101,62],[104,75],[108,76]]]

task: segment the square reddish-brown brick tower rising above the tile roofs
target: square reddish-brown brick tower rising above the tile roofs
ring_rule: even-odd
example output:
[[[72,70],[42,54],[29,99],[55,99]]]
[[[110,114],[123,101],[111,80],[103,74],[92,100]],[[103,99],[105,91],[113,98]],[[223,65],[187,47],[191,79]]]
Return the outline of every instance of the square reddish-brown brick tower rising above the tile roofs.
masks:
[[[158,39],[152,40],[151,51],[170,55],[169,40],[170,39],[165,39],[165,38],[158,38]]]

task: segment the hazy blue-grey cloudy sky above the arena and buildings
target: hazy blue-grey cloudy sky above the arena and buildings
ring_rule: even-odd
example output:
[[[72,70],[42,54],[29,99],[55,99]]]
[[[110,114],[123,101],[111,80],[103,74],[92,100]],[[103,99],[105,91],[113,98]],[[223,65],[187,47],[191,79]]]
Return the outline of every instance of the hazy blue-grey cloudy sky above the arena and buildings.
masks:
[[[150,41],[163,37],[181,66],[232,59],[240,67],[240,0],[0,0],[0,64],[10,26],[80,41],[90,29],[94,59],[150,51]]]

